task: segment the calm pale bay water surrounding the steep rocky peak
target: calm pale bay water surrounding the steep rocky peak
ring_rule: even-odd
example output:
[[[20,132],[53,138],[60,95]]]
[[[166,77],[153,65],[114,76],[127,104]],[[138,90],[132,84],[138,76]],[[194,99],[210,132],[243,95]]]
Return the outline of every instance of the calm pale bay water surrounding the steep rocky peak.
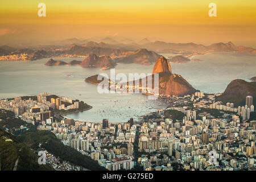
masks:
[[[172,56],[172,54],[162,54]],[[71,61],[74,58],[53,58]],[[172,72],[183,76],[194,88],[206,93],[224,92],[226,85],[236,78],[249,81],[256,76],[256,54],[249,53],[210,53],[197,55],[185,64],[171,63]],[[49,59],[31,62],[0,61],[0,98],[34,96],[41,92],[60,94],[72,99],[85,101],[93,109],[68,117],[86,121],[112,122],[127,121],[151,111],[166,107],[159,101],[148,100],[141,94],[99,94],[97,86],[86,83],[84,79],[98,73],[107,73],[100,68],[80,66],[46,66]],[[76,58],[82,60],[82,58]],[[154,65],[118,64],[117,73],[151,73]],[[71,75],[68,77],[67,75]]]

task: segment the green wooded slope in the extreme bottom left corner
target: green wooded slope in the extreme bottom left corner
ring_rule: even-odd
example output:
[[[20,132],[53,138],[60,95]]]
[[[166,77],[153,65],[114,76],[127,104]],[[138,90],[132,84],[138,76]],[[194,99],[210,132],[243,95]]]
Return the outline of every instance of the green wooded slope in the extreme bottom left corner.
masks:
[[[16,137],[3,130],[0,130],[0,158],[2,171],[12,171],[16,160],[16,170],[54,170],[47,165],[39,165],[38,156],[26,144],[20,143]]]

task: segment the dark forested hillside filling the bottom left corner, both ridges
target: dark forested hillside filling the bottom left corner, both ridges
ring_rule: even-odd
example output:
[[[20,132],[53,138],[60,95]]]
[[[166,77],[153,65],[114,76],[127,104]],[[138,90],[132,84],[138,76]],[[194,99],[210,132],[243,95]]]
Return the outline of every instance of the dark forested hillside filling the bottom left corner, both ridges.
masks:
[[[6,133],[4,130],[8,130]],[[89,156],[65,146],[51,131],[37,131],[36,126],[15,118],[11,111],[0,110],[0,158],[2,170],[13,170],[19,156],[17,170],[48,170],[48,166],[38,164],[39,143],[48,152],[77,166],[91,170],[105,170]],[[31,149],[30,149],[31,148]]]

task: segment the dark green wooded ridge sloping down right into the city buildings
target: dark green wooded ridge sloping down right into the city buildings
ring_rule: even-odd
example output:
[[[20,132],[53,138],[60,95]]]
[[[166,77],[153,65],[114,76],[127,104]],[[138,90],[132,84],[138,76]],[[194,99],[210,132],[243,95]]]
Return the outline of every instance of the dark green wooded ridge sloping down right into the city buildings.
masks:
[[[65,146],[50,131],[28,133],[22,137],[22,140],[34,150],[38,150],[39,143],[42,143],[41,147],[46,148],[46,150],[51,154],[59,156],[60,159],[69,161],[78,166],[82,166],[90,170],[106,170],[90,157],[82,155],[79,151],[76,151],[69,146]]]

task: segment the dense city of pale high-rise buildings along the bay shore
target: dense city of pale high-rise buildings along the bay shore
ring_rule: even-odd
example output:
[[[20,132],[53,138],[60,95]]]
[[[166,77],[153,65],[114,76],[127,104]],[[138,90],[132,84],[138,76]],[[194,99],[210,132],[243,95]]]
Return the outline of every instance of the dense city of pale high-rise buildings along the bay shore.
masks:
[[[220,94],[196,92],[174,100],[166,109],[127,122],[76,121],[65,117],[88,109],[78,100],[46,92],[33,97],[0,100],[0,111],[12,111],[16,118],[51,131],[65,146],[95,160],[105,169],[175,171],[255,170],[256,114],[253,97],[245,106],[215,101]],[[4,122],[0,119],[1,122]],[[3,126],[8,133],[27,126]],[[86,170],[46,152],[46,163],[56,170]],[[39,150],[39,149],[38,149]],[[38,152],[34,150],[34,152]]]

